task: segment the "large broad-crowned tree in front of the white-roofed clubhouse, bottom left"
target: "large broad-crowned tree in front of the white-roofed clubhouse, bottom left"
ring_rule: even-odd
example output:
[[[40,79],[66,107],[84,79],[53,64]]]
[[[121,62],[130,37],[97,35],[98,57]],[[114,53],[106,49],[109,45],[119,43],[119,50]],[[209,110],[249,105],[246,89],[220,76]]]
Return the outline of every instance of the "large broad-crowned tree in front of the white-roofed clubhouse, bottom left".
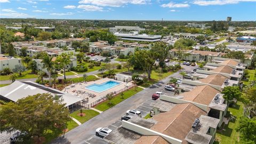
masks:
[[[6,103],[2,106],[0,119],[5,122],[1,123],[1,131],[19,130],[39,140],[49,131],[60,133],[64,124],[71,120],[65,103],[49,93]]]

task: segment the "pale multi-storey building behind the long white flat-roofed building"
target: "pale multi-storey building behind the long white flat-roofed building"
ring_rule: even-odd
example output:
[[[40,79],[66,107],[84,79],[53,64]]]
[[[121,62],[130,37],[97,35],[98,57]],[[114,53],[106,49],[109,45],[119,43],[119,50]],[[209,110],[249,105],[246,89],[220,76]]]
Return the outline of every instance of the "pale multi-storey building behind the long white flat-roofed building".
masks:
[[[140,27],[134,27],[134,26],[115,26],[115,27],[110,27],[109,32],[111,33],[117,33],[117,32],[122,32],[122,33],[129,33],[130,31],[143,31],[146,30],[145,28],[140,28]]]

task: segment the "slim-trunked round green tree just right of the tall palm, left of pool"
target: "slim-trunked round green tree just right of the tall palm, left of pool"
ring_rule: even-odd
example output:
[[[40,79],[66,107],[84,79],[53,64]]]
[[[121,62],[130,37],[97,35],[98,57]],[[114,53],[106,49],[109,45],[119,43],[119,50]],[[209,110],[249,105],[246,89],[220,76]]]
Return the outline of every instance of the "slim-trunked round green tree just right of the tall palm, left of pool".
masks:
[[[64,74],[64,79],[66,79],[66,69],[68,68],[68,65],[70,64],[71,60],[71,55],[72,53],[61,53],[58,55],[56,59],[56,64],[58,65],[59,68],[63,69],[63,74]]]

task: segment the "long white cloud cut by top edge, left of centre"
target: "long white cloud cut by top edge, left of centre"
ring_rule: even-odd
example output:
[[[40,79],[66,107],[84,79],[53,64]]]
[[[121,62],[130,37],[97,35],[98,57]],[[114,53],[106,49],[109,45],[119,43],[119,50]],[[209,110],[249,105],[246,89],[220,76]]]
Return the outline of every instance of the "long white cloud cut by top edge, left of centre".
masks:
[[[93,4],[98,6],[120,7],[126,4],[147,4],[150,0],[82,0],[79,4]]]

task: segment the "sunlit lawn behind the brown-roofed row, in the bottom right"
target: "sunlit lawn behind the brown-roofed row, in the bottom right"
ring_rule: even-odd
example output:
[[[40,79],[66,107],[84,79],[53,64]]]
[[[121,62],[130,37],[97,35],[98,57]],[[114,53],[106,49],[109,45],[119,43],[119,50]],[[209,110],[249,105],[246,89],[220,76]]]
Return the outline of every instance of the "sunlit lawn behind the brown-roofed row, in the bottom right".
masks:
[[[241,101],[237,101],[233,107],[228,108],[228,113],[233,115],[235,119],[230,120],[228,125],[223,127],[224,130],[217,130],[216,138],[219,140],[219,143],[235,144],[239,136],[239,133],[236,132],[235,128],[238,125],[237,118],[243,115],[243,103]]]

